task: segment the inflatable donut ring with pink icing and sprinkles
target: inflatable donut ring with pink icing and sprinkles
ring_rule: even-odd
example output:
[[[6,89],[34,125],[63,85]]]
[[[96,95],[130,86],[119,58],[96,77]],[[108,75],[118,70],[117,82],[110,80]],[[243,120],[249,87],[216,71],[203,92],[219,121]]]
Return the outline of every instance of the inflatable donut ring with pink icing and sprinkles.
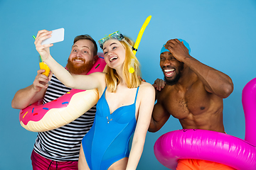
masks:
[[[98,53],[98,60],[93,65],[90,72],[103,72],[105,60],[102,53]],[[97,89],[78,90],[71,89],[67,94],[45,104],[37,101],[31,106],[22,109],[19,113],[21,126],[32,132],[43,132],[53,130],[66,125],[80,115],[95,106],[99,100]]]

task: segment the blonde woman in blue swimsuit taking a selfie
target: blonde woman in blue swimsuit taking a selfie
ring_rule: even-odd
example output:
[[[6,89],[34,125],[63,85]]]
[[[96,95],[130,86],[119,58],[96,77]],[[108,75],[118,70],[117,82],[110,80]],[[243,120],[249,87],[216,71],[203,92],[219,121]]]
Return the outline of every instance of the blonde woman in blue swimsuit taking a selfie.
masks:
[[[139,61],[132,52],[132,41],[119,31],[102,38],[100,47],[107,73],[72,76],[41,45],[51,32],[37,35],[35,44],[42,59],[56,77],[73,89],[98,89],[95,122],[82,140],[79,169],[136,169],[142,155],[146,132],[154,107],[154,87],[139,79]],[[132,67],[133,73],[128,70]],[[134,133],[129,152],[129,138]]]

